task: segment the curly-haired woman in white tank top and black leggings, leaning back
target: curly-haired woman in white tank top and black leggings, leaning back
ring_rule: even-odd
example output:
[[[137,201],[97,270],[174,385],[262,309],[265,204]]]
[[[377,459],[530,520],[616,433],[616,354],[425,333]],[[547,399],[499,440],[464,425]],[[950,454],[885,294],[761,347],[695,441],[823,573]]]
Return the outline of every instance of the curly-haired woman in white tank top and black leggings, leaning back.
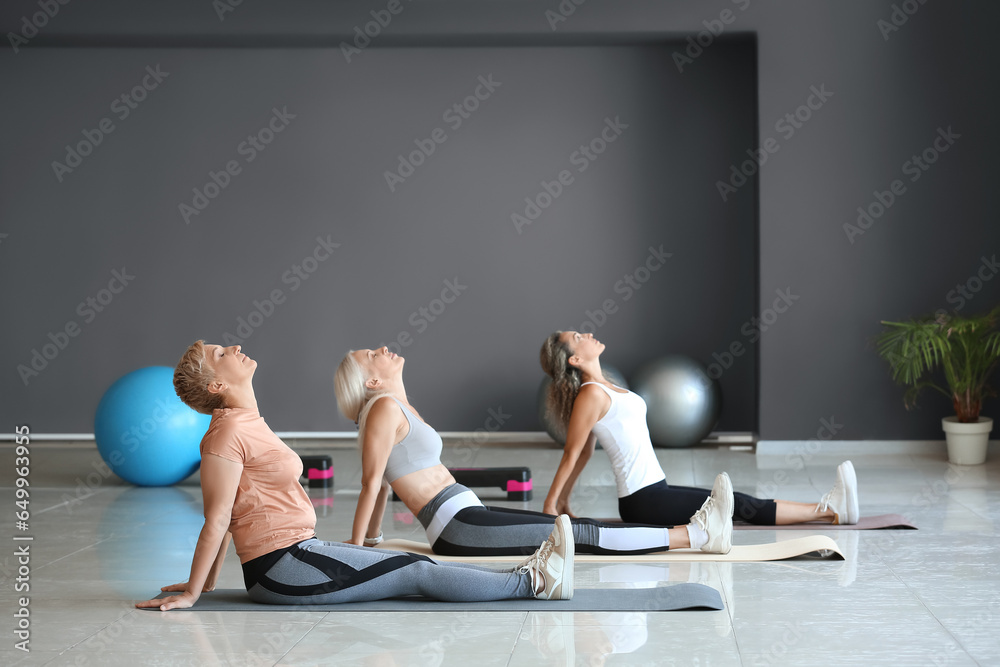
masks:
[[[562,425],[566,447],[545,499],[544,511],[570,513],[569,498],[598,441],[607,451],[618,485],[623,521],[670,526],[690,516],[708,497],[706,489],[668,486],[649,438],[646,405],[638,395],[616,387],[601,371],[604,343],[593,334],[557,331],[541,350],[541,364],[552,378],[547,408]],[[734,494],[735,515],[758,525],[807,521],[858,522],[857,478],[845,461],[833,489],[819,504],[763,500]]]

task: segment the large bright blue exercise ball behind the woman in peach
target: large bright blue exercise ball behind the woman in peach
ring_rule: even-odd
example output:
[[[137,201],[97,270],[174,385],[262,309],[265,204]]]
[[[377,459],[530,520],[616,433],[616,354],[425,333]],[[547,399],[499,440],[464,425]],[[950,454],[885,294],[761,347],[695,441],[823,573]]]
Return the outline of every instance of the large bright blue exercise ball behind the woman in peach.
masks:
[[[174,369],[150,366],[119,378],[94,416],[94,437],[112,472],[137,486],[170,486],[201,465],[211,421],[174,392]]]

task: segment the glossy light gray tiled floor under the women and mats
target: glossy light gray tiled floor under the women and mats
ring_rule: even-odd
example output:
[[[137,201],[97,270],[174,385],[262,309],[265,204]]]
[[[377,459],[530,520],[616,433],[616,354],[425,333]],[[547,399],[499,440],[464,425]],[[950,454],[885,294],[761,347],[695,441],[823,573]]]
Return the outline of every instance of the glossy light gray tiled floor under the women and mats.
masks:
[[[877,445],[873,444],[875,450]],[[943,445],[942,445],[943,448]],[[8,461],[13,452],[0,446]],[[300,450],[305,451],[305,450]],[[348,536],[358,491],[352,448],[334,458],[332,493],[312,492],[318,535]],[[446,449],[450,465],[531,467],[539,509],[560,452],[542,447]],[[755,457],[727,449],[660,450],[676,484],[709,485],[728,470],[738,490],[817,500],[839,457]],[[449,460],[447,457],[451,456]],[[14,547],[0,552],[6,610],[0,664],[25,665],[990,665],[1000,663],[1000,464],[951,467],[944,453],[852,456],[863,514],[896,512],[919,531],[831,531],[847,561],[581,564],[578,587],[719,589],[721,612],[316,613],[150,612],[135,600],[185,581],[201,528],[197,476],[144,489],[104,478],[91,447],[32,447],[29,654],[14,648]],[[0,471],[13,504],[12,465]],[[780,480],[780,483],[779,483]],[[492,504],[499,491],[481,490]],[[574,510],[613,516],[600,452]],[[496,499],[496,500],[494,500]],[[13,513],[11,508],[11,512]],[[13,520],[8,522],[13,536]],[[821,531],[820,531],[821,532]],[[387,537],[422,539],[398,503]],[[738,531],[737,544],[810,533]],[[9,538],[8,538],[9,539]],[[8,542],[8,545],[16,544]],[[242,586],[230,553],[220,588]]]

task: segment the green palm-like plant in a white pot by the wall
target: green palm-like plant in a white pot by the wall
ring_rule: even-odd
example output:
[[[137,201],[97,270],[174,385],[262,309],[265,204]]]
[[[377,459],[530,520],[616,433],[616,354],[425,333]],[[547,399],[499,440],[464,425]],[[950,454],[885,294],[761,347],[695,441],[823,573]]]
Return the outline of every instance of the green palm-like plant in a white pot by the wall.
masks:
[[[941,420],[951,463],[976,465],[986,460],[993,420],[980,417],[979,409],[983,398],[996,395],[986,381],[1000,360],[998,319],[1000,306],[978,317],[938,311],[906,322],[882,321],[885,330],[875,339],[892,379],[910,387],[903,397],[907,410],[924,387],[951,399],[955,415]],[[927,378],[938,366],[944,370],[947,390]]]

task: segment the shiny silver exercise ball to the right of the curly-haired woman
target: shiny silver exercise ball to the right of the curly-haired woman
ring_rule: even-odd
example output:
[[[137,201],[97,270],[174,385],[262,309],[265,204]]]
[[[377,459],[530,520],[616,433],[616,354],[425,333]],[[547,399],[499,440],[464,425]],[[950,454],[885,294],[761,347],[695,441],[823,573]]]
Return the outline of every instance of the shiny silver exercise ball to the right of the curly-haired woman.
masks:
[[[719,421],[722,389],[705,365],[670,355],[644,366],[635,377],[635,393],[646,401],[646,424],[654,445],[690,447],[701,442]]]

